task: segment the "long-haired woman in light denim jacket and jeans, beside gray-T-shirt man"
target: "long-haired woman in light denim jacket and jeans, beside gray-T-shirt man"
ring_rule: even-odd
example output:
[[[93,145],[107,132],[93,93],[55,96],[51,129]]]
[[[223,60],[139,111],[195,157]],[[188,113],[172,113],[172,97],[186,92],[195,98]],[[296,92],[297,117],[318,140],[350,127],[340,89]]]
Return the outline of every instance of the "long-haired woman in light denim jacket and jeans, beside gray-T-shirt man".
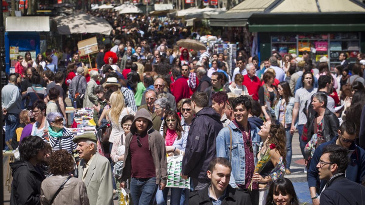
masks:
[[[290,133],[290,127],[292,123],[292,112],[294,106],[294,97],[290,90],[289,84],[286,81],[280,82],[277,85],[277,98],[275,105],[275,116],[279,120],[281,125],[284,126],[285,136],[287,138],[287,169],[285,174],[291,174],[289,168],[292,160],[292,138]]]

